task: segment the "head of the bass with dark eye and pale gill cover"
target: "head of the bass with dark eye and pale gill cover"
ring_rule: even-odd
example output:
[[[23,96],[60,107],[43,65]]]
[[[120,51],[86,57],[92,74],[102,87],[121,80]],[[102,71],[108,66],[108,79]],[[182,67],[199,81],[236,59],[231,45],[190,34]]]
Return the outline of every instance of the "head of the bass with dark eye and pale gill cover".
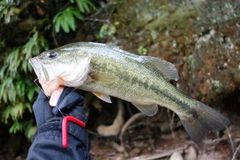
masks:
[[[88,77],[91,55],[76,47],[45,51],[29,60],[46,95],[59,86],[79,87]]]

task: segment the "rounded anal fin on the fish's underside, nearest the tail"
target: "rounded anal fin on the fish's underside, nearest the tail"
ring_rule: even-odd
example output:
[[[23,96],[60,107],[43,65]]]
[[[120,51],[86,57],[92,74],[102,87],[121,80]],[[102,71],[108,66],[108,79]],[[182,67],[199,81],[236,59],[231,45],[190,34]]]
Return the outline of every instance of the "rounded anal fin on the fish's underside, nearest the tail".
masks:
[[[158,111],[158,106],[156,104],[153,104],[153,105],[144,105],[144,104],[136,104],[136,103],[132,103],[132,104],[147,116],[153,116]]]

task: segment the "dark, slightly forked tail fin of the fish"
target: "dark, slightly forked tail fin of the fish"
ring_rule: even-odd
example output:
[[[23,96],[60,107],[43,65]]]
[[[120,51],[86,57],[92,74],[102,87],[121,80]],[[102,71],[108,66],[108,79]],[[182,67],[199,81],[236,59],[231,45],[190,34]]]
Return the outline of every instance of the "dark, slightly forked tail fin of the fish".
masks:
[[[196,111],[191,117],[180,118],[190,138],[198,145],[210,131],[219,131],[227,128],[230,121],[213,108],[195,101]]]

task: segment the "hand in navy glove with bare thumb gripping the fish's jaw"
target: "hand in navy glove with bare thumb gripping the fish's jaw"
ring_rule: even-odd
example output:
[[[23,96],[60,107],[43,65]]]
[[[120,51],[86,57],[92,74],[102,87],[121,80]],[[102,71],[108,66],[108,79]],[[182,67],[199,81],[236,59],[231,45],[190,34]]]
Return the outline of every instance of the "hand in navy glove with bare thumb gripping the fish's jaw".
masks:
[[[83,97],[74,88],[59,87],[50,98],[41,90],[33,104],[37,126],[39,127],[46,122],[60,121],[65,115],[86,122],[86,107],[83,104]]]

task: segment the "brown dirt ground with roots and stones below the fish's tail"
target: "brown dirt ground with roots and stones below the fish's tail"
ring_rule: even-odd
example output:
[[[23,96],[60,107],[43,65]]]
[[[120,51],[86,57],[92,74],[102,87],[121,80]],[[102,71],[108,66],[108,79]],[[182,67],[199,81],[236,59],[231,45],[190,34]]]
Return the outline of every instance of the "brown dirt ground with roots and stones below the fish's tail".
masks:
[[[225,131],[209,133],[201,146],[189,139],[178,118],[164,121],[169,113],[133,122],[125,131],[124,148],[118,136],[101,137],[90,133],[93,160],[237,160],[240,159],[240,117],[230,117],[231,126]],[[231,116],[230,116],[231,115]],[[158,119],[157,118],[157,119]],[[154,122],[155,121],[155,122]],[[157,123],[159,124],[157,124]],[[166,123],[167,122],[167,123]],[[151,124],[151,125],[150,125]],[[165,127],[163,127],[165,126]],[[165,129],[164,129],[165,128]],[[165,132],[165,133],[164,133]],[[173,155],[174,154],[174,155]],[[177,157],[175,155],[180,155]]]

